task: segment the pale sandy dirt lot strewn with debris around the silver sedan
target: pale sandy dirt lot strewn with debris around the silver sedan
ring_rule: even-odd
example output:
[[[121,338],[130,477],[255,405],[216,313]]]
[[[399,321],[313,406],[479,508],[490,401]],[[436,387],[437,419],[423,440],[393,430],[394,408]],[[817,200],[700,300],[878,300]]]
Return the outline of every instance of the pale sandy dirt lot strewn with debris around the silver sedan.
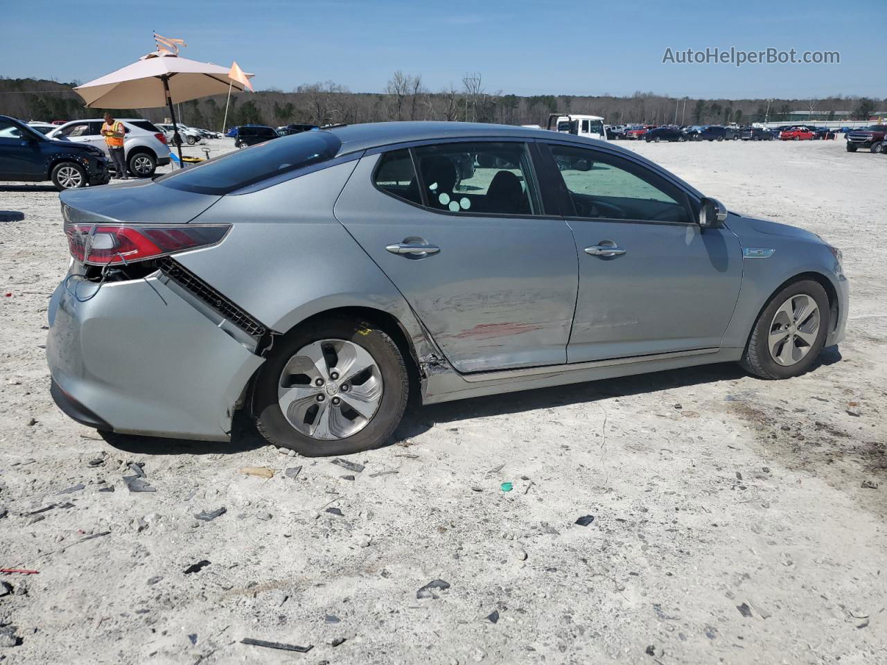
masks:
[[[620,145],[841,247],[847,340],[788,381],[724,364],[422,408],[359,472],[248,423],[220,444],[67,419],[58,195],[0,183],[0,567],[40,571],[0,575],[0,661],[887,662],[887,157]]]

